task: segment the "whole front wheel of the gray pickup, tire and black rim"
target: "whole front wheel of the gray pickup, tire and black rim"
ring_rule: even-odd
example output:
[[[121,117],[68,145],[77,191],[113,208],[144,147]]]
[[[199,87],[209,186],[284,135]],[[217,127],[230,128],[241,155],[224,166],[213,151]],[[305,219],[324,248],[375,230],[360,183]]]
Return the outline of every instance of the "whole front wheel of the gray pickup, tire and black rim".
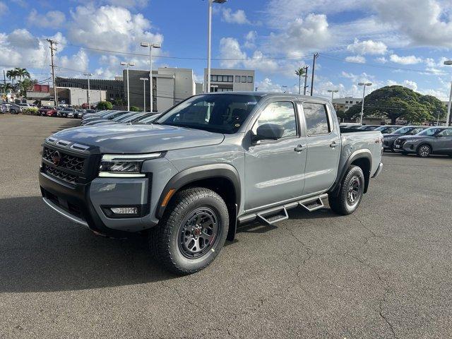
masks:
[[[184,189],[150,230],[150,248],[163,268],[177,274],[196,273],[221,251],[228,227],[227,206],[217,193],[203,187]]]

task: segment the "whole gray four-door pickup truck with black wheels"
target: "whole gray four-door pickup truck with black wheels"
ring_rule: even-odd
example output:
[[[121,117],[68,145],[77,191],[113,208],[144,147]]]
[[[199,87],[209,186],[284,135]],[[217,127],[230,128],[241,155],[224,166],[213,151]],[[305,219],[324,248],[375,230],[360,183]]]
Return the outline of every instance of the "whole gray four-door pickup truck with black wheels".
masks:
[[[356,210],[383,167],[380,132],[343,133],[330,102],[280,93],[195,95],[153,124],[66,129],[46,139],[44,202],[97,234],[143,232],[179,274],[208,266],[237,225],[273,225],[328,197]]]

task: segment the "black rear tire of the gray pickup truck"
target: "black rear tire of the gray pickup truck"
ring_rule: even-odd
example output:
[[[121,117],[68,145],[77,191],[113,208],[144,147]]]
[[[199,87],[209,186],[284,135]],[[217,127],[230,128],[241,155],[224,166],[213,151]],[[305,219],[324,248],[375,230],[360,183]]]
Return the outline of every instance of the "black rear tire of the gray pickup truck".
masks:
[[[356,201],[350,203],[350,199],[348,198],[350,194],[350,187],[355,184],[358,184],[358,195]],[[355,191],[355,190],[354,190]],[[349,215],[355,212],[358,208],[359,203],[361,203],[362,195],[364,192],[364,174],[362,173],[361,167],[351,165],[347,169],[347,173],[345,173],[342,182],[340,183],[340,189],[338,192],[338,196],[329,195],[328,202],[330,203],[331,209],[340,215]]]

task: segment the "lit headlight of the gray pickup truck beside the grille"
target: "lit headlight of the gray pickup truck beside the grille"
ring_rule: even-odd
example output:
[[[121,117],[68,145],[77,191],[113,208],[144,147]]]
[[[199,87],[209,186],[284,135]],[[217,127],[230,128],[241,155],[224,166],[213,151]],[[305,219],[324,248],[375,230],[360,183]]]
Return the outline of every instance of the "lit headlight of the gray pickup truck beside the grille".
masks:
[[[143,161],[161,157],[162,152],[147,154],[105,154],[99,166],[99,177],[145,177]]]

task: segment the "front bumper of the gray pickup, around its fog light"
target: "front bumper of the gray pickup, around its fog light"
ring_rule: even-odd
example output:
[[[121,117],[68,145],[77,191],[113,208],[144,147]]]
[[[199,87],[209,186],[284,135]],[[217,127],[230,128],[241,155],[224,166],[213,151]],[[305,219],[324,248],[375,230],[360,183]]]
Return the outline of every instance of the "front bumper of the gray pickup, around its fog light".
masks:
[[[46,173],[39,176],[42,198],[47,206],[69,220],[110,237],[124,237],[153,227],[150,212],[150,177],[96,178],[88,184],[69,184]],[[136,206],[138,217],[107,217],[111,207]]]

